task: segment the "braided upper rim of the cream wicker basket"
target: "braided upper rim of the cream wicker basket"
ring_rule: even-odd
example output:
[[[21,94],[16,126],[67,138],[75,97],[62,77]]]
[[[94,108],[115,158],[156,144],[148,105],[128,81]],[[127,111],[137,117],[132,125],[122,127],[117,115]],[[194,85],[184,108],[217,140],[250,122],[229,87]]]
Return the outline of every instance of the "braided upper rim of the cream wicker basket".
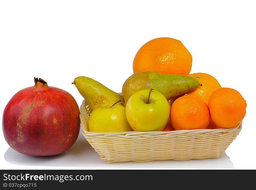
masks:
[[[119,132],[119,133],[113,133],[113,132],[103,132],[103,133],[97,133],[97,132],[90,132],[86,131],[83,121],[83,104],[86,103],[86,100],[84,99],[82,101],[82,104],[80,106],[80,120],[81,120],[81,128],[83,135],[87,136],[140,136],[140,135],[186,135],[186,134],[197,134],[197,133],[230,133],[232,131],[237,130],[238,128],[242,128],[242,121],[235,127],[227,128],[227,129],[191,129],[191,130],[175,130],[175,131],[127,131],[127,132]]]

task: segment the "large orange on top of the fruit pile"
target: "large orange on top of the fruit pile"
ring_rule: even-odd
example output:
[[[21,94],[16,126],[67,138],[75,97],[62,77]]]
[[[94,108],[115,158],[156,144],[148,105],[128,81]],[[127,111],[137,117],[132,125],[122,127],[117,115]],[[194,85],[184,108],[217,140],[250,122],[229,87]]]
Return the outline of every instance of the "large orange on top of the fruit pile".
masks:
[[[133,72],[156,71],[166,74],[188,75],[192,56],[181,41],[173,38],[156,38],[144,44],[136,53]]]

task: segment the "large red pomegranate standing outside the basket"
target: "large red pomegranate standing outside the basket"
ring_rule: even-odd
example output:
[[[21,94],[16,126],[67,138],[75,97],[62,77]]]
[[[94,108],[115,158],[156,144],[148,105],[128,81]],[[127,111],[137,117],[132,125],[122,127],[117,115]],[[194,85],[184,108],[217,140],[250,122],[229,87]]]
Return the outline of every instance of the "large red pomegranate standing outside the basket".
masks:
[[[17,92],[3,111],[5,140],[26,155],[60,154],[79,135],[79,106],[70,93],[40,78],[34,81],[35,86]]]

